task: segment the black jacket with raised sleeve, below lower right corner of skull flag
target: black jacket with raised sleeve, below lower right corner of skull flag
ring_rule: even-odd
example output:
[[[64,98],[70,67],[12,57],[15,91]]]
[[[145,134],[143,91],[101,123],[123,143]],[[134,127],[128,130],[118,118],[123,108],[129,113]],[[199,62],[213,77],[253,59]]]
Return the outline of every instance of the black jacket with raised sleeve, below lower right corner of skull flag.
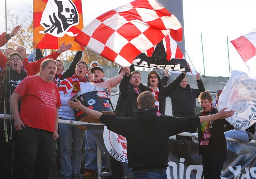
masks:
[[[57,86],[59,86],[61,81],[63,81],[65,78],[69,78],[69,77],[72,77],[72,75],[74,75],[76,70],[76,64],[81,60],[81,57],[82,57],[82,51],[77,51],[68,69],[64,71],[63,75],[60,77],[60,80],[58,81]],[[56,78],[58,78],[59,76],[60,75],[55,75]]]

